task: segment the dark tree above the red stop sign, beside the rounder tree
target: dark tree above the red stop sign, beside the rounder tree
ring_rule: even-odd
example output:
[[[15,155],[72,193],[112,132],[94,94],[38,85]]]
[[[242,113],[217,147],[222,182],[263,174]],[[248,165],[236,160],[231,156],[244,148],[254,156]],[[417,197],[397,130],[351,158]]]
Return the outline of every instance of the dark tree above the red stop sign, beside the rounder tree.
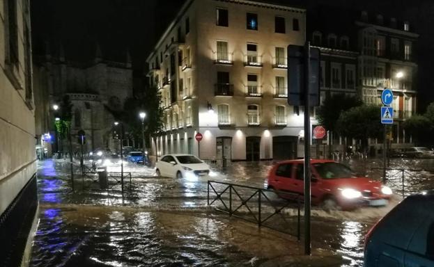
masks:
[[[339,120],[339,115],[343,111],[361,106],[362,100],[357,96],[345,95],[343,93],[331,95],[327,93],[323,104],[318,108],[316,112],[316,118],[318,122],[329,131],[329,138],[336,131],[336,122]],[[332,142],[329,142],[329,154],[332,153]]]

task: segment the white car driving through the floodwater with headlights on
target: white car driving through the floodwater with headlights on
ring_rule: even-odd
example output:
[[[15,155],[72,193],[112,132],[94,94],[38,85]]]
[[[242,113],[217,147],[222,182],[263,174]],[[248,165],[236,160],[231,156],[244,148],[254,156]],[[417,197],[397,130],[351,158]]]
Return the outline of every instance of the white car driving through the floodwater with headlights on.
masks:
[[[194,155],[170,154],[162,156],[155,164],[157,176],[192,178],[210,174],[210,166]]]

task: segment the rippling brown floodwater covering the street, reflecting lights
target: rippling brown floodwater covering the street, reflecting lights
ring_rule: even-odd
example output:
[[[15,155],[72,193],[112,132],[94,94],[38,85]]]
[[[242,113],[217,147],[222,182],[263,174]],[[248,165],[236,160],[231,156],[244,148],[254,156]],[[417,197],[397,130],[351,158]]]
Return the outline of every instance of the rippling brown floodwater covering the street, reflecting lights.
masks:
[[[432,163],[394,159],[390,167],[429,169]],[[371,170],[381,167],[380,161],[348,164],[357,172],[380,179],[382,171]],[[233,163],[212,179],[263,188],[271,165]],[[39,164],[40,222],[31,266],[260,266],[267,259],[302,254],[302,242],[294,237],[296,220],[290,219],[297,214],[295,204],[282,211],[291,225],[291,236],[258,229],[254,223],[228,218],[208,207],[208,179],[159,178],[152,168],[126,165],[124,171],[131,172],[132,186],[127,176],[124,195],[115,179],[110,190],[100,190],[91,175],[84,182],[76,175],[72,193],[68,168],[62,161]],[[401,200],[402,172],[394,172],[389,170],[388,175],[398,194],[387,207],[331,212],[313,207],[313,254],[332,250],[348,259],[342,266],[362,266],[366,232]],[[432,177],[428,171],[405,172],[405,188],[434,188]],[[221,193],[218,186],[216,190]],[[246,199],[251,195],[249,191],[239,192]],[[256,202],[255,197],[249,203]],[[227,201],[227,195],[222,200]],[[233,204],[238,207],[237,202]],[[221,206],[219,201],[213,204]],[[258,211],[254,204],[249,207],[253,213]],[[266,203],[262,212],[273,209]],[[238,212],[250,216],[245,207]]]

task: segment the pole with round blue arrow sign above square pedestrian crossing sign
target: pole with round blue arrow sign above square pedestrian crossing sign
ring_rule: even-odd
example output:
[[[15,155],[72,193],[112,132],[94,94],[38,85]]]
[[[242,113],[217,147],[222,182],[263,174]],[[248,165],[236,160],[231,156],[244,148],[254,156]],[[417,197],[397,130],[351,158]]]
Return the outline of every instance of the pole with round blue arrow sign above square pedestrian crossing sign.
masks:
[[[382,144],[382,160],[383,160],[383,172],[382,182],[386,182],[386,161],[387,161],[387,124],[394,124],[394,108],[392,108],[392,102],[394,101],[394,93],[392,90],[385,88],[381,92],[381,107],[380,120],[382,124],[385,124],[384,140]]]

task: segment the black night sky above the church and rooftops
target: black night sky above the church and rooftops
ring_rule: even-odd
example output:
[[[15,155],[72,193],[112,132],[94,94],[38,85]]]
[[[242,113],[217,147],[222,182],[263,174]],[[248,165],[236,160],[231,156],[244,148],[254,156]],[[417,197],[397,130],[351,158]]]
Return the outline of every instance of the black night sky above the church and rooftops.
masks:
[[[200,1],[200,0],[199,0]],[[44,54],[47,44],[56,56],[62,45],[73,61],[92,60],[96,44],[104,58],[124,61],[127,49],[134,76],[141,76],[144,61],[185,0],[37,0],[31,1],[33,54]],[[420,34],[419,104],[434,101],[434,1],[432,0],[271,0],[294,6],[344,6],[369,13],[407,19]]]

